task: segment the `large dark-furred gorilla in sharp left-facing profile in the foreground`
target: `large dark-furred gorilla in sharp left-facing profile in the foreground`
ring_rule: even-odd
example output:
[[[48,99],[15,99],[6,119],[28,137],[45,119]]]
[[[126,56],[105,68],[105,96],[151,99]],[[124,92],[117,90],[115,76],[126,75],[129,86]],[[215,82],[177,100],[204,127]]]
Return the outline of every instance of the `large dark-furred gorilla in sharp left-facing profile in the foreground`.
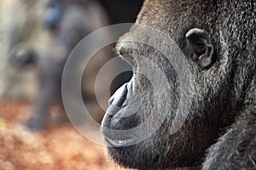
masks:
[[[182,86],[173,71],[172,65],[177,65],[177,61],[168,62],[161,53],[139,43],[144,39],[161,46],[164,41],[136,25],[131,27],[120,38],[117,51],[131,63],[133,77],[113,94],[102,122],[102,133],[113,161],[123,167],[147,170],[256,168],[255,7],[253,0],[146,0],[143,3],[136,24],[167,32],[182,50],[188,65],[179,66],[180,70],[189,69],[191,73],[187,81],[194,90],[186,99],[192,105],[182,127],[172,133],[171,125],[178,124],[173,119],[173,110],[180,99],[178,94],[187,90],[179,88]],[[171,53],[172,47],[164,48],[167,54]],[[152,83],[140,74],[143,62],[137,54],[160,65],[168,77],[170,91],[154,104]],[[134,87],[139,93],[135,93]],[[166,99],[170,93],[171,97]],[[135,113],[127,110],[127,106],[137,102],[139,94],[143,108]],[[167,106],[167,110],[154,111],[155,105]],[[154,117],[164,114],[166,118],[161,126],[138,143],[132,143],[137,140],[133,131],[125,139],[114,133],[138,127],[147,117],[149,124],[154,124]],[[141,130],[141,134],[147,133],[148,128]]]

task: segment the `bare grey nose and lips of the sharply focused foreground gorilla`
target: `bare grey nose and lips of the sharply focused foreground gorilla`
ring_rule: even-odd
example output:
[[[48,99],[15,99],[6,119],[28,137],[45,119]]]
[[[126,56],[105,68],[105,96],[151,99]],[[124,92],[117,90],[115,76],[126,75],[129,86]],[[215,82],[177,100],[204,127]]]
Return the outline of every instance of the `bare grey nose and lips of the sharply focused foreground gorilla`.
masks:
[[[130,82],[119,88],[108,102],[109,107],[102,121],[102,134],[108,144],[122,147],[136,143],[141,133],[134,128],[142,123],[139,114],[143,112],[143,107],[135,78],[132,77]]]

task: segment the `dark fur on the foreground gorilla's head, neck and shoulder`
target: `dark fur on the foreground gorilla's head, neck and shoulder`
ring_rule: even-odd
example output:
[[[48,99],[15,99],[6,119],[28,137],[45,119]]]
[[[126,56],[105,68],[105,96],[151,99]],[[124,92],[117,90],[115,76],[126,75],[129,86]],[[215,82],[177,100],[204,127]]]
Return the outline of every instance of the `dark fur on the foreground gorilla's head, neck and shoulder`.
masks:
[[[124,167],[138,169],[256,168],[255,6],[253,0],[144,2],[137,23],[167,31],[189,60],[189,65],[183,66],[189,66],[193,73],[191,83],[195,92],[188,96],[193,105],[188,119],[175,134],[169,133],[172,113],[168,113],[170,118],[165,124],[143,142],[128,147],[108,147],[114,161]],[[192,28],[207,31],[211,39],[215,59],[207,68],[202,68],[192,59],[185,38],[186,32]],[[117,47],[119,53],[139,53],[154,59],[160,65],[165,65],[166,74],[172,80],[175,76],[172,75],[170,64],[161,60],[160,54],[143,45],[127,45],[125,42],[143,38],[155,41],[148,37],[148,32],[134,26],[120,39]],[[136,114],[139,116],[137,119],[140,119],[150,113],[150,89],[145,78],[139,74],[134,74],[134,77],[143,94],[145,112]],[[158,105],[169,105],[172,108],[177,99],[173,97],[170,101],[160,101]],[[127,121],[129,123],[120,120],[126,128],[137,126],[137,122],[132,125],[129,119]],[[105,119],[102,130],[105,126],[109,127],[109,123],[111,120]],[[119,128],[125,129],[120,124]]]

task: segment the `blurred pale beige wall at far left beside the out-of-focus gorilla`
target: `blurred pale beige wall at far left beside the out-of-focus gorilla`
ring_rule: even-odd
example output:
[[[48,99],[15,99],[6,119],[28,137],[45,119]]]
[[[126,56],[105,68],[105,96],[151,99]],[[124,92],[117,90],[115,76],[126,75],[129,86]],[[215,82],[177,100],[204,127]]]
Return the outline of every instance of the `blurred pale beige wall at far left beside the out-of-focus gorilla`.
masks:
[[[38,51],[46,50],[50,33],[42,26],[43,1],[0,1],[0,98],[27,99],[37,87],[34,68],[15,68],[9,64],[9,52],[19,42]],[[40,45],[38,45],[40,43]]]

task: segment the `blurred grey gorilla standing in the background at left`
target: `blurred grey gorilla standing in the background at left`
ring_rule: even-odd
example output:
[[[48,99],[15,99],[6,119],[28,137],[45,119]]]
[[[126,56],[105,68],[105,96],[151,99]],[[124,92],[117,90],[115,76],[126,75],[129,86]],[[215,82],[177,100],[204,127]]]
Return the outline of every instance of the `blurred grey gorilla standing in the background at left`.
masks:
[[[32,131],[42,131],[47,127],[49,110],[55,104],[59,106],[61,112],[64,112],[61,100],[61,77],[67,57],[75,45],[90,32],[107,26],[108,17],[101,5],[96,2],[50,0],[44,24],[52,29],[54,37],[47,52],[39,53],[26,47],[25,43],[20,43],[12,50],[10,57],[11,63],[15,65],[35,65],[38,68],[38,94],[32,104],[32,116],[26,122],[26,127]],[[103,111],[99,105],[96,105],[94,99],[94,82],[97,71],[108,59],[110,59],[110,48],[102,49],[90,60],[91,64],[85,68],[86,73],[83,77],[83,97],[90,102],[89,107],[92,114],[96,114],[94,116],[96,121],[102,119]],[[78,69],[82,69],[82,66],[77,65]],[[61,118],[65,119],[58,121],[67,120],[65,116]]]

